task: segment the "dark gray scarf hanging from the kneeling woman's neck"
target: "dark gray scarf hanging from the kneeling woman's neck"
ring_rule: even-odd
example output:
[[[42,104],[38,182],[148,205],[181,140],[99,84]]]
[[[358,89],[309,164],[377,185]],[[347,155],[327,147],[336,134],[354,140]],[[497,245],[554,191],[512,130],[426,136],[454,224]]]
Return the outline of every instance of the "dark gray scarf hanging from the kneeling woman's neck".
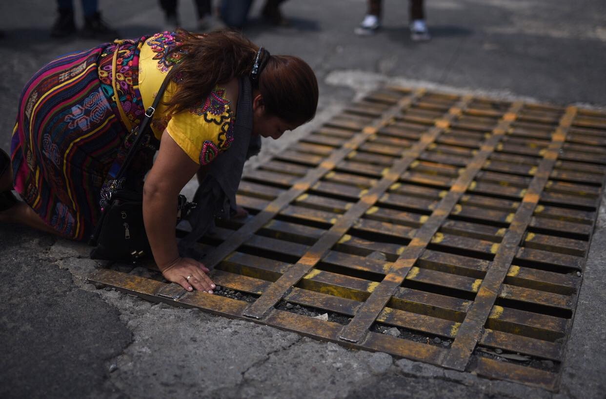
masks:
[[[193,245],[213,228],[215,218],[228,219],[232,211],[235,211],[236,192],[242,178],[244,162],[261,149],[260,137],[251,137],[253,101],[248,77],[241,77],[238,87],[234,140],[227,151],[210,163],[204,181],[196,190],[193,202],[197,206],[188,217],[192,230],[179,242],[179,252],[182,256],[199,257]]]

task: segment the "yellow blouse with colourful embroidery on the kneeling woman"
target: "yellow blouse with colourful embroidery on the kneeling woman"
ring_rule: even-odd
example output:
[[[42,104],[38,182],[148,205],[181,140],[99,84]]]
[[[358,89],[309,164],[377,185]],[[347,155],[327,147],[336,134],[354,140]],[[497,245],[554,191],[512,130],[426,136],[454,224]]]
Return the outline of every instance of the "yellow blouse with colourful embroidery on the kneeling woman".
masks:
[[[141,47],[139,54],[139,92],[145,109],[153,103],[164,77],[172,67],[165,58],[167,33],[151,36]],[[182,148],[183,151],[199,165],[207,165],[215,157],[227,150],[233,142],[233,124],[235,116],[230,108],[230,101],[225,97],[225,89],[215,90],[201,99],[198,107],[181,111],[167,117],[167,101],[175,93],[176,84],[168,84],[162,101],[151,121],[151,130],[160,139],[164,130]]]

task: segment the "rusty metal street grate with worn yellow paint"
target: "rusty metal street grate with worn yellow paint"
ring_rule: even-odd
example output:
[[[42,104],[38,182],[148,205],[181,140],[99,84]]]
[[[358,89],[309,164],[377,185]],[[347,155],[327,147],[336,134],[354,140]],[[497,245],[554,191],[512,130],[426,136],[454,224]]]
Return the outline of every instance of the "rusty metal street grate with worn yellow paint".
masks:
[[[199,243],[220,295],[91,280],[557,390],[605,154],[605,113],[387,87],[243,177]]]

